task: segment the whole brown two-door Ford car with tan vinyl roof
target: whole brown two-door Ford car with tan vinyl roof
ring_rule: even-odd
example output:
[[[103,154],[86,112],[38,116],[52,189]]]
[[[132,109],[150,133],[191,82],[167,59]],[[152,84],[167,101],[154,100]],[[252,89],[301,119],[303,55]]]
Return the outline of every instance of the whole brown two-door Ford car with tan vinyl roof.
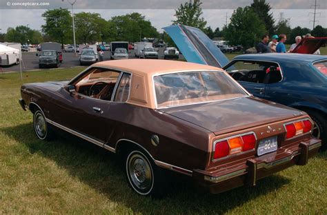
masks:
[[[308,114],[258,99],[208,65],[105,61],[71,81],[24,84],[21,96],[39,139],[59,128],[121,154],[141,195],[162,192],[163,169],[211,193],[252,186],[306,165],[321,146]]]

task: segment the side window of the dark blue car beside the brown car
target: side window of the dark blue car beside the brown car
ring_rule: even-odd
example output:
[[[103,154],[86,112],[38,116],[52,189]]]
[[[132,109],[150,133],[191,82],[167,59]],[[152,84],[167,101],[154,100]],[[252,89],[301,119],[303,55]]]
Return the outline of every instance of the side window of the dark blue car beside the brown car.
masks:
[[[237,61],[226,70],[236,81],[269,84],[277,83],[282,79],[277,63]]]

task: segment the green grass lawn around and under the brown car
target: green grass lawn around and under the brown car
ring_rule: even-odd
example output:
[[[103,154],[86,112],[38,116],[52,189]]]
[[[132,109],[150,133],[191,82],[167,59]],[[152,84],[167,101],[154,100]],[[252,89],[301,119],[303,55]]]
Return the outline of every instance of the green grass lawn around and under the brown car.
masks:
[[[327,153],[223,194],[195,192],[188,178],[164,199],[128,187],[110,152],[78,139],[37,140],[21,83],[70,79],[79,69],[0,74],[0,214],[327,214]],[[192,159],[191,157],[188,159]]]

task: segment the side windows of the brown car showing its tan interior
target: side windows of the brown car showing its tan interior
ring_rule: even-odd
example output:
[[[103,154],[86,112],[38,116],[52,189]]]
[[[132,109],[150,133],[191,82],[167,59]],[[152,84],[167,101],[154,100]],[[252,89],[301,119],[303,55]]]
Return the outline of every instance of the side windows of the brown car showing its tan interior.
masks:
[[[92,68],[90,73],[75,84],[76,92],[95,99],[110,101],[120,72],[103,68]],[[117,86],[114,101],[126,101],[130,89],[130,74],[124,73]]]

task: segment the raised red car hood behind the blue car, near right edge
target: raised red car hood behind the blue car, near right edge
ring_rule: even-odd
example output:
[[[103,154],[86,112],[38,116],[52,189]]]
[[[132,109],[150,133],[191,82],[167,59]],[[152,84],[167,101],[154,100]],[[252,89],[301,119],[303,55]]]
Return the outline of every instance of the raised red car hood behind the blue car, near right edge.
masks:
[[[326,46],[327,37],[304,38],[292,51],[299,54],[313,54],[321,46]]]

